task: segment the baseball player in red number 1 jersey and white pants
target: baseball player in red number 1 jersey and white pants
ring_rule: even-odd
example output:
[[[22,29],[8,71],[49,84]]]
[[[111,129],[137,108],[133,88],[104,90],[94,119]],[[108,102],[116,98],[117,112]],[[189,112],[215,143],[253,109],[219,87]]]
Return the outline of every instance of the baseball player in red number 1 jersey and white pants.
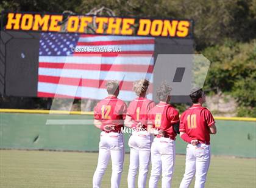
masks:
[[[128,142],[130,146],[130,166],[127,177],[129,188],[135,187],[138,167],[138,187],[146,187],[152,141],[151,133],[147,131],[147,115],[149,110],[155,106],[155,102],[145,98],[148,86],[149,81],[146,79],[140,79],[133,83],[133,91],[138,98],[133,99],[127,108],[125,125],[133,128]]]

